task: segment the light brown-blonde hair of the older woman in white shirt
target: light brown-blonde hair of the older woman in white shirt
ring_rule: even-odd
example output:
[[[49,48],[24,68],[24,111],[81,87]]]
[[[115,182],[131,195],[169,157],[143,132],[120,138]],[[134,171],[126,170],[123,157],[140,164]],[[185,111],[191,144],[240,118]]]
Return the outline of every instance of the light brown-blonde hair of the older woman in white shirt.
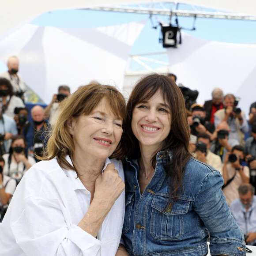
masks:
[[[59,165],[64,169],[76,171],[74,159],[75,145],[72,135],[69,133],[67,120],[70,117],[89,115],[101,100],[105,98],[109,109],[122,118],[123,129],[126,123],[126,106],[124,96],[115,88],[99,83],[91,83],[80,87],[72,95],[60,102],[58,111],[59,116],[55,121],[52,131],[49,132],[49,140],[43,157],[40,160],[50,160],[57,158]],[[116,150],[110,158],[124,158],[124,142],[120,141]],[[66,156],[69,155],[73,166],[68,163]]]

